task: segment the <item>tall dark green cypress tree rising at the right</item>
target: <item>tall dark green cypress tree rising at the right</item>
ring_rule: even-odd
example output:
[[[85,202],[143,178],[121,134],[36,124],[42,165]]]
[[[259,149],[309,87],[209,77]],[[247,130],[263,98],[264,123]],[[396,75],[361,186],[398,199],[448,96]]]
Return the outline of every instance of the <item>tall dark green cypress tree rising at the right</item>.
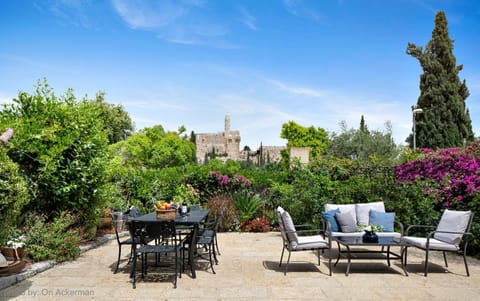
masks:
[[[465,105],[469,92],[465,80],[458,77],[463,65],[456,64],[443,11],[435,16],[432,39],[425,49],[409,43],[407,54],[416,58],[423,69],[417,102],[423,113],[414,116],[417,146],[446,148],[473,141],[472,122]],[[406,141],[412,145],[412,135]]]

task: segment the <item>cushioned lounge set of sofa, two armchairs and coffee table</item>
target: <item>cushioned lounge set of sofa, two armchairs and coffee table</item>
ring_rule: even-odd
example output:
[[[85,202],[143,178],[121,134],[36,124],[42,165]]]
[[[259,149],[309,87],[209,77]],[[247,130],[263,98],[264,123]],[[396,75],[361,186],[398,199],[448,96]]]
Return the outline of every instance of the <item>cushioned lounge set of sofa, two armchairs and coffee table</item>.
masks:
[[[448,267],[446,252],[454,252],[463,256],[467,276],[470,276],[466,258],[466,250],[470,236],[470,226],[473,219],[471,211],[453,211],[445,209],[436,226],[411,225],[404,231],[403,225],[395,221],[394,212],[385,212],[383,202],[357,204],[325,204],[322,213],[322,230],[302,230],[304,225],[295,225],[288,213],[282,207],[276,209],[280,231],[283,239],[283,249],[280,257],[282,266],[285,250],[288,259],[284,274],[287,274],[292,252],[317,251],[320,265],[320,251],[327,252],[328,274],[332,275],[332,244],[337,245],[336,266],[342,257],[347,259],[345,275],[349,275],[351,261],[357,257],[354,254],[365,253],[368,257],[362,259],[400,260],[400,267],[406,276],[408,248],[415,247],[425,251],[424,276],[428,275],[429,253],[443,253],[445,266]],[[365,238],[365,227],[381,228],[374,239]],[[417,229],[428,229],[426,236],[414,232]],[[313,232],[309,234],[308,232]],[[371,233],[369,233],[371,234]],[[394,252],[398,249],[398,252]],[[383,256],[371,256],[381,254]]]

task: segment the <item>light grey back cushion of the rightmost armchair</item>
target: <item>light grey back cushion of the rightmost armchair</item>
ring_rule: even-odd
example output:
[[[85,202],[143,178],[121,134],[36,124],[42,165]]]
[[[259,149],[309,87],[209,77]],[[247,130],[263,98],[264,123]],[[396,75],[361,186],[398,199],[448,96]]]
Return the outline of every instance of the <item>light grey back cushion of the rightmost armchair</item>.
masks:
[[[470,220],[470,211],[452,211],[445,209],[442,218],[438,223],[436,231],[460,232],[467,230],[468,222]],[[433,237],[446,243],[458,245],[462,239],[463,234],[452,233],[435,233]]]

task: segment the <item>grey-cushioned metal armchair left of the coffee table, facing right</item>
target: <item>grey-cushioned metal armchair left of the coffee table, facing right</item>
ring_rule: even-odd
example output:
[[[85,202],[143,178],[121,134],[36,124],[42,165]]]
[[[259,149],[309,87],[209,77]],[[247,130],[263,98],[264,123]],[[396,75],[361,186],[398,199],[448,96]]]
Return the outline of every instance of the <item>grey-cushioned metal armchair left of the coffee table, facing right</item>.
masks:
[[[284,275],[287,275],[288,264],[290,263],[292,252],[316,250],[318,265],[320,265],[320,250],[328,250],[328,270],[329,275],[332,276],[331,241],[323,239],[323,236],[320,234],[303,235],[308,232],[318,233],[318,230],[297,230],[288,211],[285,211],[280,206],[276,211],[283,240],[282,255],[280,257],[279,266],[282,266],[285,250],[288,251],[288,259],[287,264],[285,265]]]

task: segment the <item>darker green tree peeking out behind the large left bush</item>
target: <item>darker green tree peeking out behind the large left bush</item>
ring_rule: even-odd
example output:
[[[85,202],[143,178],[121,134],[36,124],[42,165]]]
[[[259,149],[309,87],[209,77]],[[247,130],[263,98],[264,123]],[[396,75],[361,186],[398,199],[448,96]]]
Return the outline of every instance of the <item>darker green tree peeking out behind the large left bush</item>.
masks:
[[[108,144],[114,144],[127,137],[134,130],[133,122],[128,112],[121,105],[105,102],[105,93],[98,92],[95,100],[91,101],[97,107],[103,120],[104,130],[107,133]]]

